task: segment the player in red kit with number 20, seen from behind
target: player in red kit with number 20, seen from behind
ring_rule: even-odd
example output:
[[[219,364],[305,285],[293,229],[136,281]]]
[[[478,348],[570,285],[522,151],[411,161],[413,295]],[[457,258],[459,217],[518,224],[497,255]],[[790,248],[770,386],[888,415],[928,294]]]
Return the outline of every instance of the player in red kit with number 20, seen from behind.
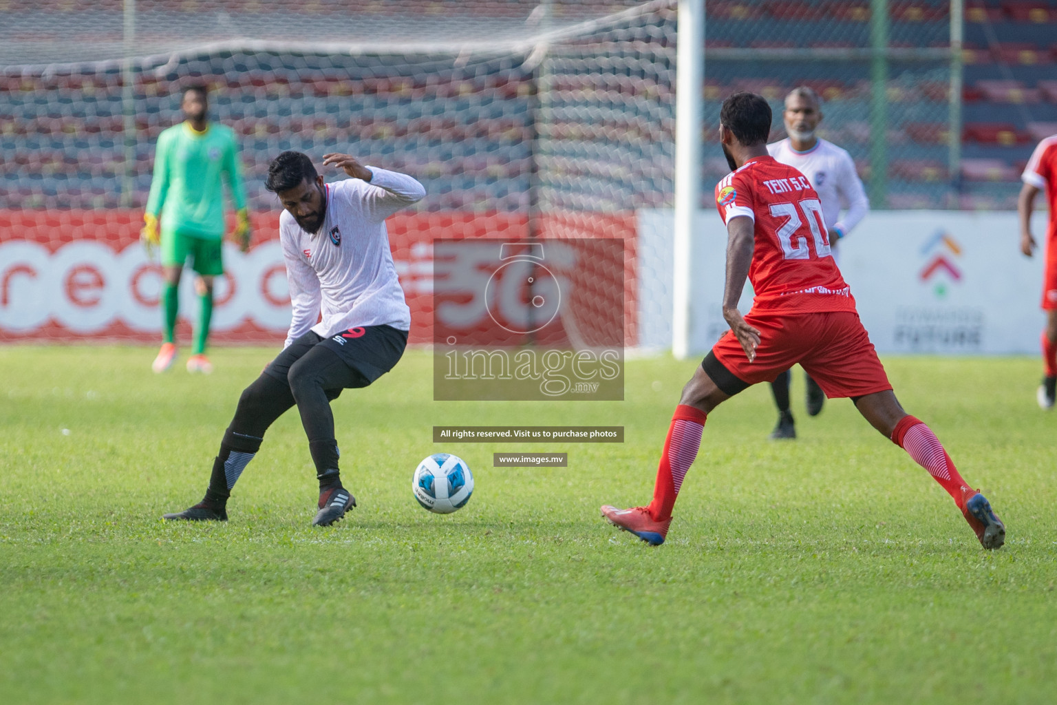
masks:
[[[653,501],[602,516],[651,545],[664,543],[686,471],[698,454],[705,419],[720,403],[799,363],[826,395],[848,396],[886,438],[953,498],[985,549],[1005,541],[1005,526],[969,487],[935,434],[900,406],[885,368],[859,322],[833,257],[822,207],[808,179],[767,154],[771,107],[735,93],[720,111],[720,142],[733,173],[716,186],[727,226],[723,317],[730,330],[683,388],[661,454]],[[748,277],[752,311],[738,311]]]

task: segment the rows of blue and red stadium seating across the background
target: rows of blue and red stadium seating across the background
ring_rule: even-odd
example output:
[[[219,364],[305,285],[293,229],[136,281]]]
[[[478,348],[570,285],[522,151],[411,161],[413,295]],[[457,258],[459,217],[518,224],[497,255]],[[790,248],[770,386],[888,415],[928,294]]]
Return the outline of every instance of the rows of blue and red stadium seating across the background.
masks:
[[[249,6],[251,0],[246,0]],[[120,0],[99,0],[99,12],[120,12]],[[144,12],[193,12],[196,0],[141,0]],[[260,4],[260,3],[257,3]],[[295,0],[270,2],[270,12],[357,12],[381,16],[395,12],[386,0]],[[438,0],[431,3],[455,17],[518,17],[528,0]],[[626,6],[633,0],[620,0]],[[30,0],[8,0],[12,12],[32,12]],[[230,12],[238,11],[231,3]],[[576,16],[576,0],[556,2],[558,15]],[[248,10],[246,12],[249,12]],[[429,11],[432,12],[432,11]],[[948,32],[944,0],[890,0],[890,42],[909,49],[943,45]],[[1043,0],[970,0],[966,5],[963,80],[964,162],[948,173],[945,60],[889,66],[886,86],[889,137],[888,204],[931,204],[944,199],[915,189],[945,184],[962,189],[963,203],[1004,203],[1016,196],[1016,177],[1034,144],[1057,133],[1057,5]],[[867,0],[717,0],[708,3],[706,50],[729,48],[829,49],[868,47]],[[418,62],[418,63],[416,63]],[[745,60],[722,56],[706,62],[706,174],[709,190],[725,172],[717,156],[718,105],[737,90],[752,90],[772,101],[776,112],[792,88],[806,85],[826,100],[821,133],[848,149],[864,168],[871,148],[869,58],[855,60]],[[251,200],[272,207],[263,190],[263,165],[277,150],[357,151],[367,160],[402,168],[426,182],[437,198],[425,207],[470,207],[496,199],[518,206],[518,188],[540,160],[563,165],[549,193],[594,198],[596,181],[617,183],[614,192],[629,199],[624,207],[671,203],[672,86],[632,69],[608,74],[569,70],[552,76],[549,119],[539,127],[543,153],[533,153],[534,75],[521,58],[475,59],[457,67],[450,57],[302,56],[276,53],[190,56],[165,71],[136,76],[137,165],[134,202],[149,188],[152,145],[179,120],[175,93],[194,80],[209,85],[216,119],[236,130],[243,149]],[[116,67],[62,68],[52,72],[0,73],[0,207],[23,205],[23,198],[61,206],[115,202],[114,180],[126,168],[124,106]],[[581,106],[598,108],[587,115]],[[74,110],[76,106],[76,110]],[[778,120],[776,120],[777,123]],[[774,138],[782,136],[780,129]],[[635,184],[622,190],[622,169],[597,159],[600,146],[616,150],[622,169]],[[712,151],[709,151],[712,150]],[[35,154],[35,156],[34,156]],[[594,165],[580,173],[576,161]],[[641,166],[629,167],[629,164]],[[657,168],[656,165],[664,165]],[[572,175],[570,175],[572,174]],[[575,179],[574,179],[575,178]],[[575,181],[578,180],[578,181]],[[711,180],[711,181],[710,181]],[[32,187],[23,184],[32,184]],[[520,186],[519,186],[520,185]],[[986,188],[984,188],[986,187]],[[976,189],[981,189],[977,191]],[[573,191],[581,189],[582,193]],[[980,199],[973,199],[979,193]],[[587,194],[587,196],[583,196]],[[558,199],[559,196],[554,196]],[[555,201],[557,202],[557,201]],[[976,207],[976,206],[973,206]]]

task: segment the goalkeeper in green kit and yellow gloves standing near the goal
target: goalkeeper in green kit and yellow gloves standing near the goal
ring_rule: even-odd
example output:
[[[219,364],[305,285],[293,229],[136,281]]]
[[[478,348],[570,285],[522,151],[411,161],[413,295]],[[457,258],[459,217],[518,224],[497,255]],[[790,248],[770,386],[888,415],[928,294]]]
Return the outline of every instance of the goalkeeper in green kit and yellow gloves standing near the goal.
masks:
[[[222,180],[227,182],[238,209],[235,240],[242,252],[249,248],[249,212],[246,210],[235,133],[226,126],[206,119],[208,100],[205,87],[186,89],[180,107],[185,120],[164,130],[157,137],[154,175],[141,234],[148,248],[161,246],[162,268],[165,272],[162,290],[165,339],[151,367],[154,372],[165,372],[177,357],[173,337],[179,312],[177,294],[180,275],[189,259],[198,274],[194,289],[199,295],[200,311],[187,371],[208,374],[212,365],[205,356],[205,344],[212,316],[212,281],[214,277],[224,273],[221,258],[224,238]]]

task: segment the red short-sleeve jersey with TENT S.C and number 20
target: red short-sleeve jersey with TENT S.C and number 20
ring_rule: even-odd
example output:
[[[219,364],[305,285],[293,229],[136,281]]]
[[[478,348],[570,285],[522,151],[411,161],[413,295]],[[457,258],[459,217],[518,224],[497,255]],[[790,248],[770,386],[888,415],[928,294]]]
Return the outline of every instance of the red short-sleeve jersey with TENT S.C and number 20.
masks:
[[[738,216],[755,223],[753,311],[855,311],[830,254],[822,204],[802,173],[772,156],[753,157],[716,185],[716,207],[724,224]]]

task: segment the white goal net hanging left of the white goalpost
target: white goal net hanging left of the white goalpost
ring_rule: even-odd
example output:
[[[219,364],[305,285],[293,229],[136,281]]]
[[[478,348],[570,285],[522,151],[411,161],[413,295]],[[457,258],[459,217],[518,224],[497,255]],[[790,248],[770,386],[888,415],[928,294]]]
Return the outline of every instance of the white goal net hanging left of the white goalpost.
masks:
[[[215,342],[282,340],[263,179],[295,149],[425,185],[389,221],[411,342],[434,341],[434,242],[559,238],[581,243],[552,264],[575,293],[563,344],[636,344],[635,212],[672,193],[673,2],[8,0],[0,20],[0,341],[159,339],[138,230],[157,135],[202,84],[240,142],[254,235],[225,243]],[[183,341],[197,310],[185,279]]]

